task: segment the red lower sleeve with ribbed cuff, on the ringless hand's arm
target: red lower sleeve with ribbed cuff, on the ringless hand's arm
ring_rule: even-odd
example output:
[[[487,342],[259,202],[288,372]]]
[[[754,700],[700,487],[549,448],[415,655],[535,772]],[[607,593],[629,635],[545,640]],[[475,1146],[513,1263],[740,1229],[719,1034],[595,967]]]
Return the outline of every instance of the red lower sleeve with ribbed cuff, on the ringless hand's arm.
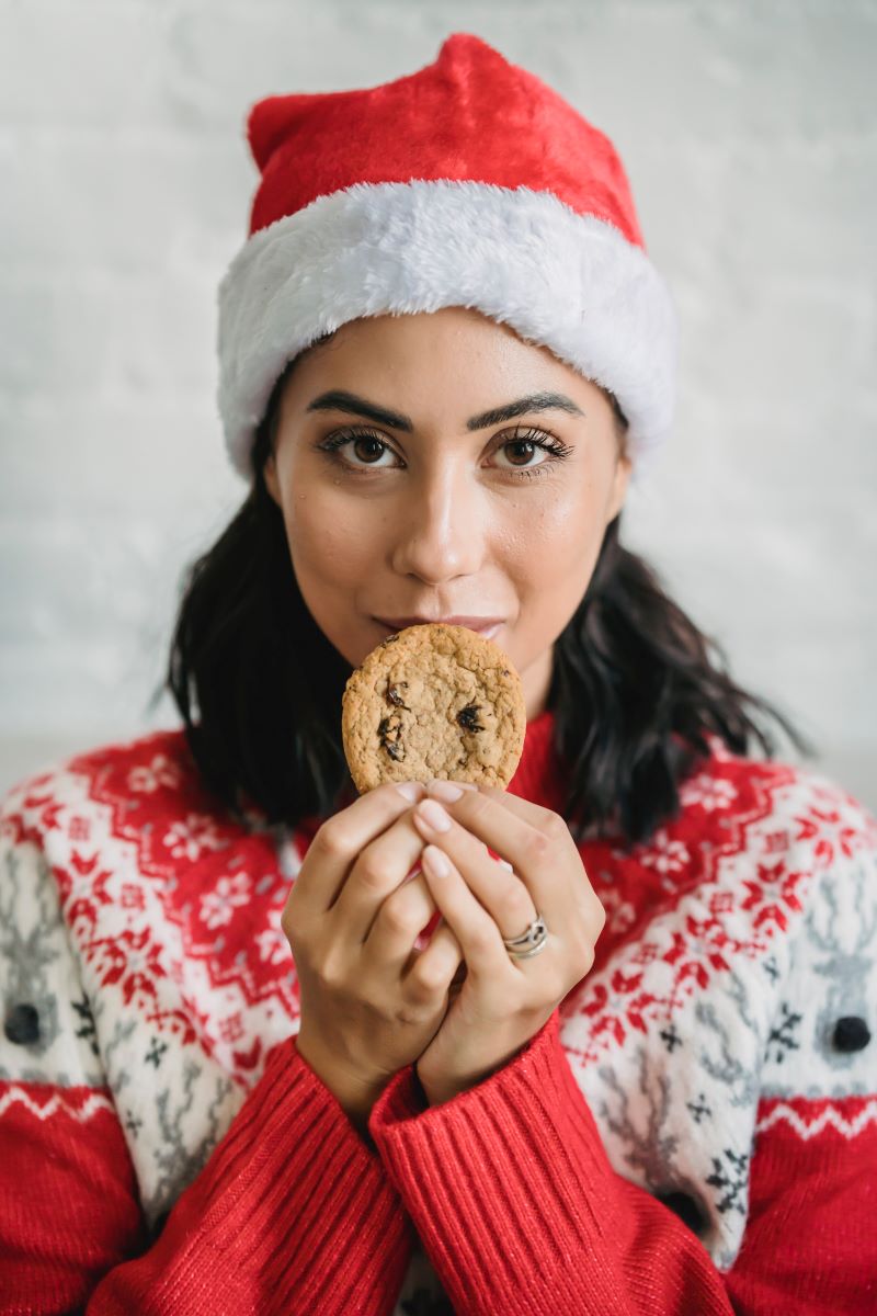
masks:
[[[100,1094],[43,1088],[0,1119],[0,1311],[235,1316],[392,1311],[413,1233],[379,1158],[296,1051],[276,1046],[199,1178],[146,1245]],[[95,1119],[75,1117],[100,1100]],[[54,1103],[57,1109],[49,1107]]]

